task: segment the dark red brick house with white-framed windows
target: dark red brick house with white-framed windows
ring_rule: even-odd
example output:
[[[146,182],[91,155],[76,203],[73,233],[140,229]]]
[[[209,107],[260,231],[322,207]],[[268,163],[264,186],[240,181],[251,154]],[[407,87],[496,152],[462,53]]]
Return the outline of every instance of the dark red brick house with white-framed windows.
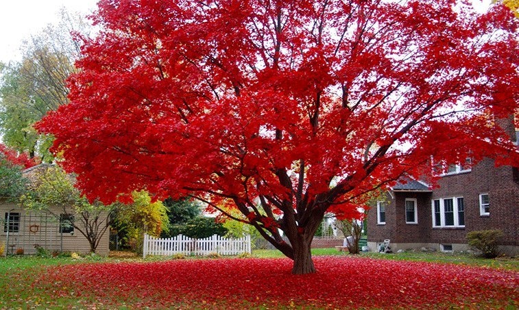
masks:
[[[518,168],[496,168],[492,159],[472,168],[451,165],[437,185],[405,178],[391,188],[367,216],[370,250],[389,239],[394,251],[461,251],[468,249],[468,232],[499,229],[505,234],[501,250],[519,255]]]

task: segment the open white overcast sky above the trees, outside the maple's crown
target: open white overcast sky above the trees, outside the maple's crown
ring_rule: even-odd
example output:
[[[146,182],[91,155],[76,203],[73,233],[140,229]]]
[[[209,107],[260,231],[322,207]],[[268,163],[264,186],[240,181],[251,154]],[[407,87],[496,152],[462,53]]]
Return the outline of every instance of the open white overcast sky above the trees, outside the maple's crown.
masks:
[[[31,34],[38,34],[49,23],[58,23],[60,8],[84,15],[95,10],[97,0],[1,0],[0,62],[20,60],[19,47]],[[173,0],[171,0],[173,1]],[[487,8],[491,0],[472,0]],[[483,4],[481,4],[483,3]]]

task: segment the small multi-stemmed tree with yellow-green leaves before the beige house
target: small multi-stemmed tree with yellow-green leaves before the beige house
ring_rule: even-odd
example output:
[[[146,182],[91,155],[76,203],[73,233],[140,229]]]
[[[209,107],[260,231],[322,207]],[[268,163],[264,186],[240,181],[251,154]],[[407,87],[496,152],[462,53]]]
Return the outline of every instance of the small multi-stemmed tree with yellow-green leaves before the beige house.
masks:
[[[21,203],[27,209],[51,215],[56,221],[73,218],[68,224],[79,231],[95,253],[103,235],[110,227],[110,219],[117,204],[88,203],[74,188],[74,178],[60,167],[42,166],[34,172]]]

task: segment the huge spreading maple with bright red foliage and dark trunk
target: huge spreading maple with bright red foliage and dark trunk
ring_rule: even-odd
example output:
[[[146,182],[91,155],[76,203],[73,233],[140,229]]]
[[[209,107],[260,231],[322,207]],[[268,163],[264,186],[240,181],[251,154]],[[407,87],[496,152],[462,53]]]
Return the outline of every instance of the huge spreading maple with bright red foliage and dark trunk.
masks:
[[[144,188],[232,205],[304,274],[330,208],[423,175],[431,157],[518,163],[494,125],[519,98],[518,22],[502,5],[98,5],[71,103],[38,125],[91,199]]]

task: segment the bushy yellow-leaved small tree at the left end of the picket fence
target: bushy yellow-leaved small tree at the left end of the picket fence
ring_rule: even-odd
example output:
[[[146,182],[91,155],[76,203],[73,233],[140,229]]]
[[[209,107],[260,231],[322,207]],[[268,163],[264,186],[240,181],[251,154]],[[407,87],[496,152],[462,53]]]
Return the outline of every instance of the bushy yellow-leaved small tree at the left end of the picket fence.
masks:
[[[117,229],[123,244],[142,254],[144,233],[154,237],[167,234],[169,219],[165,205],[160,201],[152,202],[147,192],[133,192],[132,198],[131,204],[119,204],[112,226]]]

